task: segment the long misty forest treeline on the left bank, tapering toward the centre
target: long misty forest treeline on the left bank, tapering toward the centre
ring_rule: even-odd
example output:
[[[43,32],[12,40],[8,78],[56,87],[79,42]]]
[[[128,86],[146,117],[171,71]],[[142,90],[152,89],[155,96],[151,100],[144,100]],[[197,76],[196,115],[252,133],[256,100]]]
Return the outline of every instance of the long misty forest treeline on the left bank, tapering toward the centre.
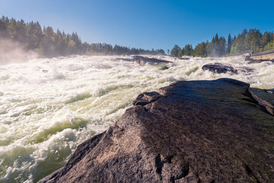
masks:
[[[2,16],[0,19],[0,38],[11,38],[19,42],[26,50],[36,50],[43,56],[67,56],[67,55],[164,55],[162,49],[136,49],[121,47],[119,45],[82,42],[77,33],[65,34],[52,27],[41,28],[38,22],[25,23]]]

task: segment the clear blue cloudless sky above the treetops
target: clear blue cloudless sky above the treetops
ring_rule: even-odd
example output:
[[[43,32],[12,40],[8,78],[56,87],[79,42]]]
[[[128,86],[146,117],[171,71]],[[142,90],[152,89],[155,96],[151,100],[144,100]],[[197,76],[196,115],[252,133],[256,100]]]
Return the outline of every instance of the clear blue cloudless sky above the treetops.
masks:
[[[214,34],[274,31],[274,1],[0,0],[0,16],[77,32],[82,41],[171,49]]]

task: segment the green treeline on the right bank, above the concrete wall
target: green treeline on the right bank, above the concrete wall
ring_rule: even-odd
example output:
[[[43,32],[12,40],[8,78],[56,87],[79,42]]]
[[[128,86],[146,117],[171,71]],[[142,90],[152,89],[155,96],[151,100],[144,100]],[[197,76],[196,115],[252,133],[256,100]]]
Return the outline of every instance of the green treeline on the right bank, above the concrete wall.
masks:
[[[201,42],[194,49],[192,45],[185,45],[180,48],[175,45],[171,50],[171,56],[225,56],[242,53],[244,51],[251,51],[258,53],[274,49],[274,34],[273,32],[260,33],[259,29],[244,29],[238,36],[229,34],[227,40],[225,37],[219,37],[218,34],[212,38],[211,41]]]

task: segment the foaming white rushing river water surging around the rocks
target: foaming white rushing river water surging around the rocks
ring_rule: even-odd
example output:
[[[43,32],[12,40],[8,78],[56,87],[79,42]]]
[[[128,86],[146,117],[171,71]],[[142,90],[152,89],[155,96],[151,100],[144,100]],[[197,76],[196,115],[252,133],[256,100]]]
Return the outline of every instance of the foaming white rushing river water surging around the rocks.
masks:
[[[0,66],[0,182],[36,182],[62,167],[77,145],[112,125],[139,93],[177,80],[220,77],[274,88],[271,62],[158,56],[173,62],[161,70],[119,58],[71,56]],[[214,62],[255,71],[251,75],[202,71],[203,64]]]

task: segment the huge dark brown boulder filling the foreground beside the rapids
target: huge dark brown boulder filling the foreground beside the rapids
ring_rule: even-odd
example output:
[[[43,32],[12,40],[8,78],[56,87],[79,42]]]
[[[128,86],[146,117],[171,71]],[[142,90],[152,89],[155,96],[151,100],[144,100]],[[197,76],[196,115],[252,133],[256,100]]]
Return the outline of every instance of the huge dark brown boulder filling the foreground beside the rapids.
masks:
[[[40,182],[274,182],[267,91],[221,79],[143,93]]]

